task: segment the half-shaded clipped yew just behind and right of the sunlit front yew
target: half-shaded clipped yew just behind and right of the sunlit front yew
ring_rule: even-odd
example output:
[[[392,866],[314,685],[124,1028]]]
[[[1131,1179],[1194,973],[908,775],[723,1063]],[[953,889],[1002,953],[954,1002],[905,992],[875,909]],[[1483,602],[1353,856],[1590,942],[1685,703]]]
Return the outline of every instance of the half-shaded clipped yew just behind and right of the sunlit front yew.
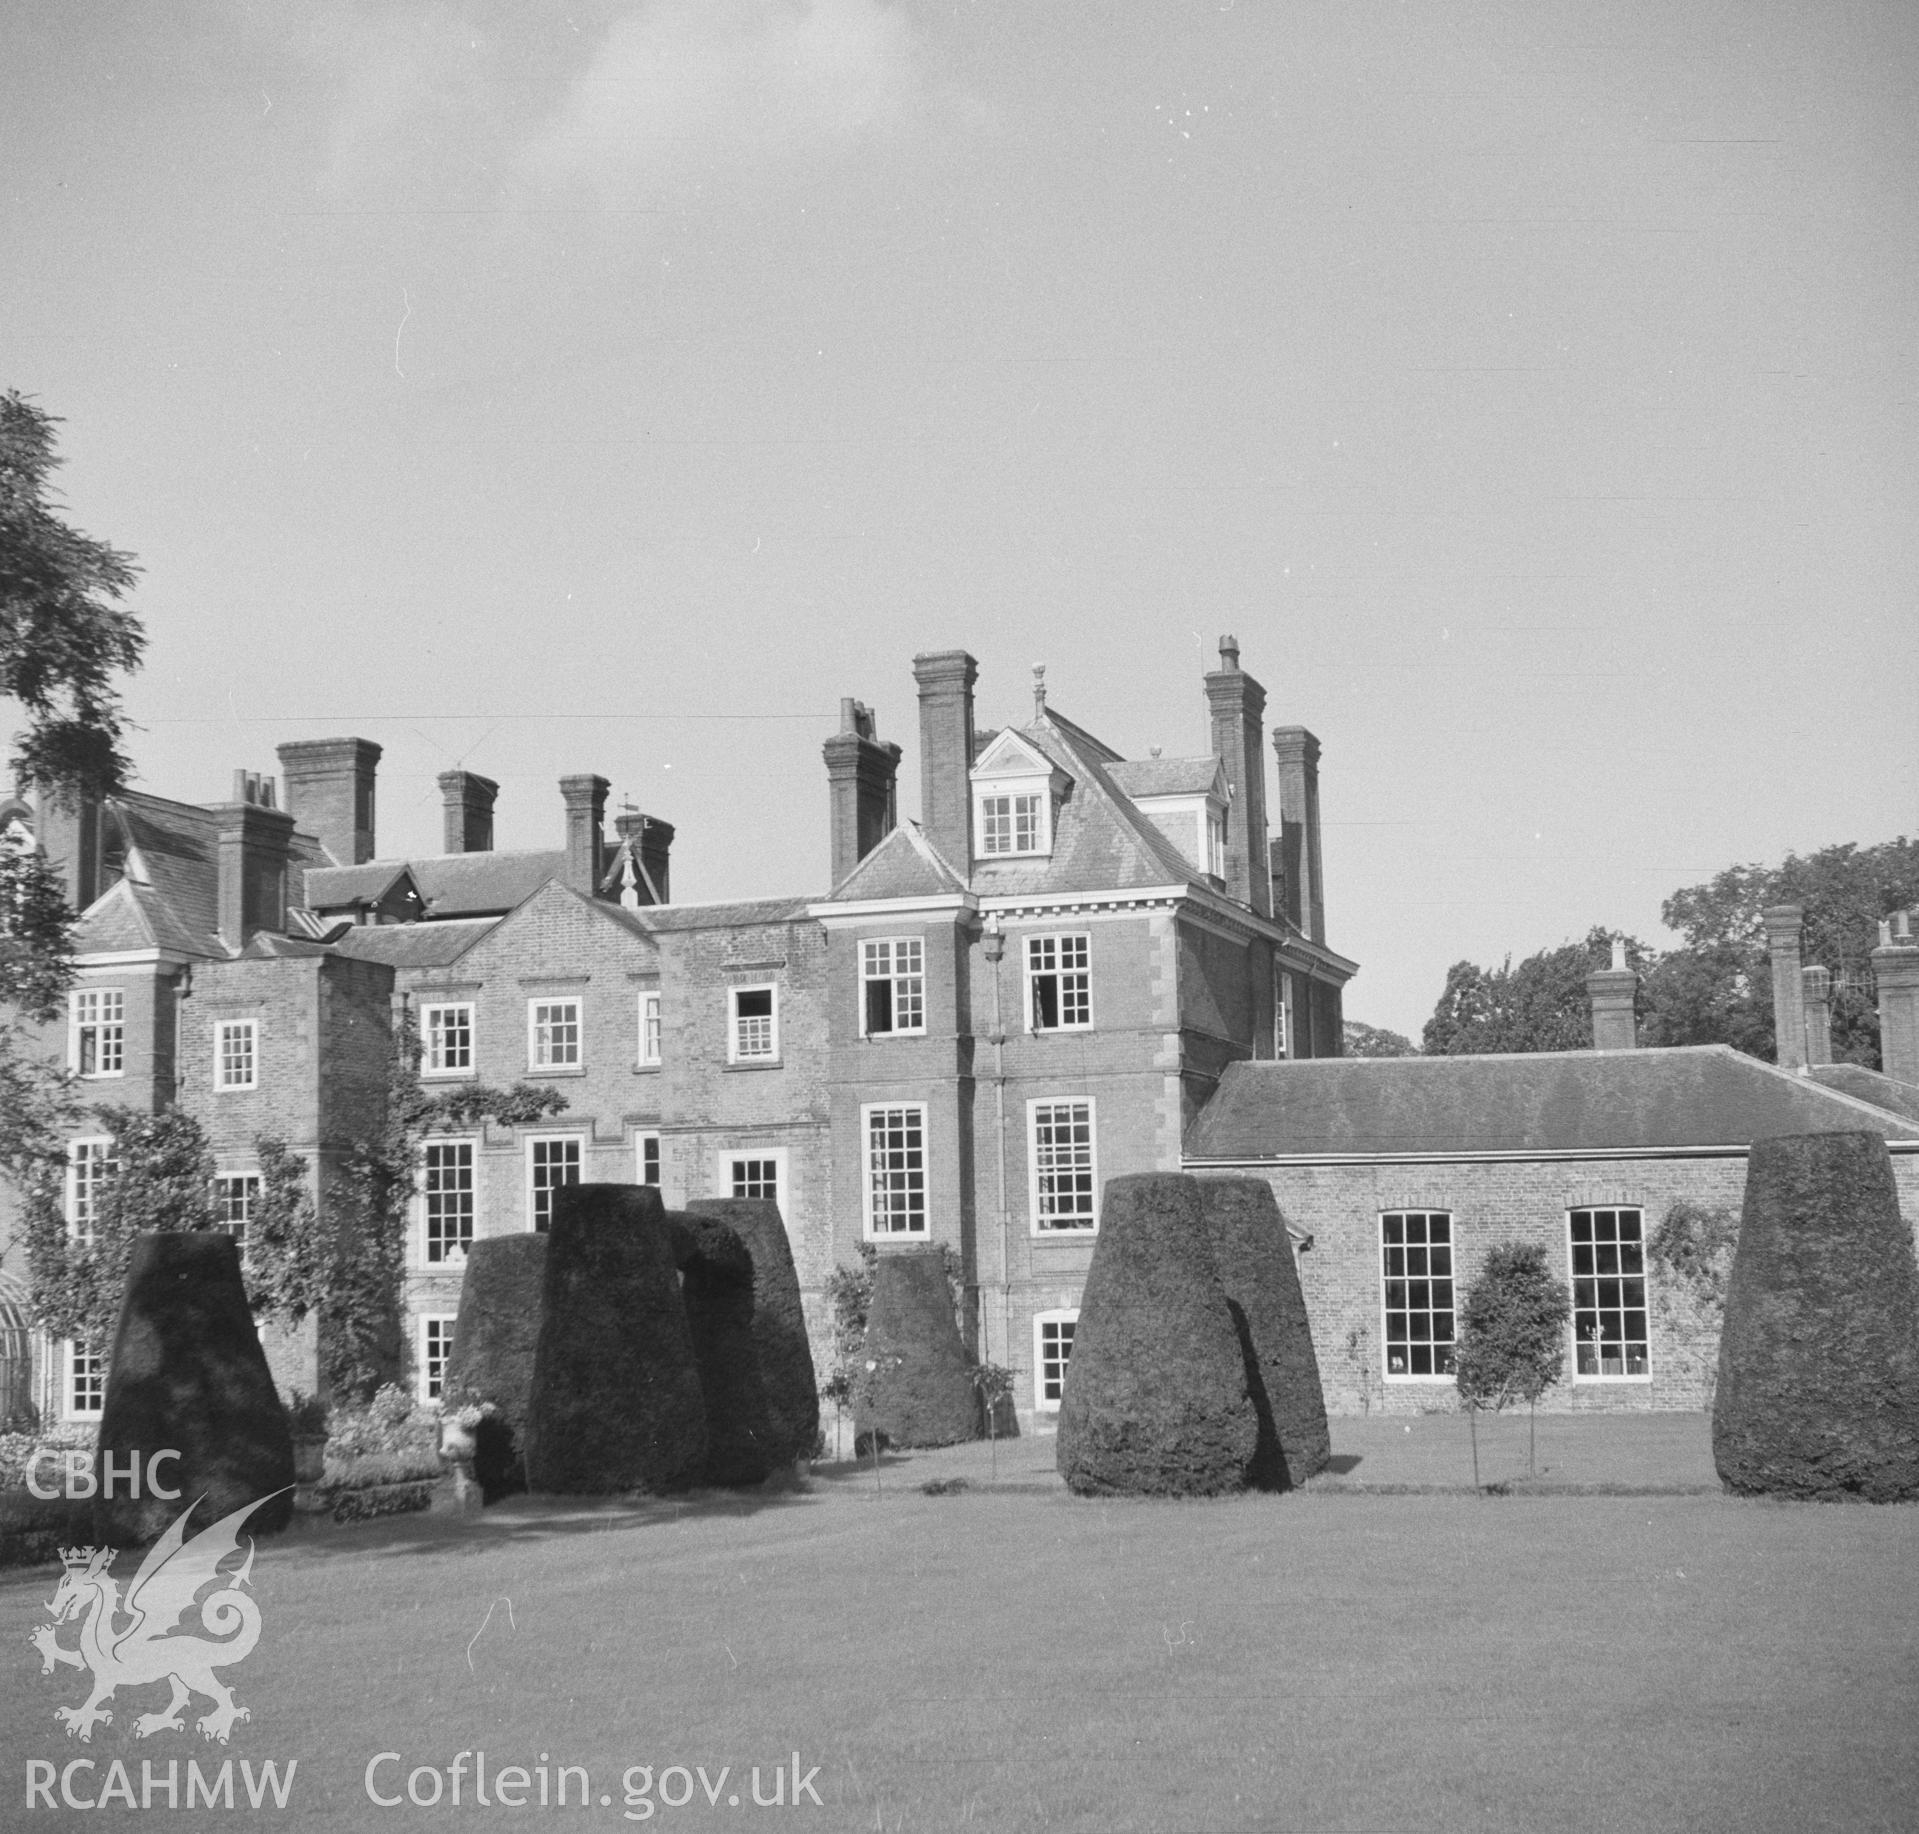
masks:
[[[1259,1446],[1247,1481],[1263,1491],[1288,1491],[1326,1470],[1332,1437],[1286,1218],[1272,1186],[1259,1178],[1199,1180],[1199,1212],[1251,1364],[1247,1387],[1259,1416]]]

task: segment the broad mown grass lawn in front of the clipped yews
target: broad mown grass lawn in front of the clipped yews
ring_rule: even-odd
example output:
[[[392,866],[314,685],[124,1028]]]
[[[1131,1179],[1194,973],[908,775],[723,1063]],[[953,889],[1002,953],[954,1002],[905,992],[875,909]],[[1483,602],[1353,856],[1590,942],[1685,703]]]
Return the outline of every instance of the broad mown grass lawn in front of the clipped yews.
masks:
[[[1378,1435],[1384,1445],[1384,1433]],[[251,1709],[226,1748],[138,1744],[129,1696],[69,1744],[27,1646],[46,1573],[0,1579],[0,1824],[29,1759],[165,1775],[284,1761],[284,1811],[161,1824],[489,1826],[539,1815],[537,1769],[585,1767],[624,1821],[819,1830],[1806,1830],[1915,1824],[1919,1510],[1712,1494],[1315,1491],[1211,1504],[1082,1502],[1044,1446],[837,1468],[743,1506],[518,1502],[265,1542]],[[1522,1454],[1524,1456],[1524,1454]],[[1364,1458],[1361,1458],[1361,1466]],[[969,1487],[929,1496],[929,1475]],[[73,1642],[73,1633],[65,1633]],[[203,1711],[203,1704],[190,1709]],[[445,1786],[461,1752],[530,1773],[530,1807],[376,1807]],[[821,1798],[754,1809],[793,1753]],[[543,1757],[545,1753],[545,1757]],[[683,1773],[672,1767],[683,1767]],[[722,1782],[720,1767],[727,1767]],[[704,1767],[718,1807],[695,1775]],[[635,1775],[633,1782],[639,1778]],[[512,1780],[509,1778],[509,1790]],[[574,1798],[578,1776],[570,1776]],[[687,1807],[660,1807],[689,1788]],[[610,1796],[601,1805],[601,1796]],[[737,1794],[739,1807],[727,1798]],[[58,1792],[56,1792],[58,1799]],[[165,1796],[157,1798],[165,1803]],[[182,1801],[184,1807],[184,1801]],[[107,1809],[107,1815],[127,1815]]]

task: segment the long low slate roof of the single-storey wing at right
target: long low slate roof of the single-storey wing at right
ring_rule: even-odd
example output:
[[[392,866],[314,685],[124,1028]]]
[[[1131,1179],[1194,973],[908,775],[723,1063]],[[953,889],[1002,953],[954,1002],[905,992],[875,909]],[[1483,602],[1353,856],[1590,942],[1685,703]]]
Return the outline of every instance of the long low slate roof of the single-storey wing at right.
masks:
[[[1723,1044],[1320,1057],[1228,1065],[1188,1132],[1186,1157],[1629,1151],[1848,1128],[1919,1140],[1919,1122]]]

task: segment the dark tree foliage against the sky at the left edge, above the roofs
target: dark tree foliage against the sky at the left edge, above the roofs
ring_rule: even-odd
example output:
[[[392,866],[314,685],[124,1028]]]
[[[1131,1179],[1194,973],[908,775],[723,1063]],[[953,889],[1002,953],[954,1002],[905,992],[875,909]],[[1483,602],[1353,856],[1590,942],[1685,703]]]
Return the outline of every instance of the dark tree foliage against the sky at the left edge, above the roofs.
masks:
[[[134,583],[132,556],[56,510],[58,424],[25,395],[0,393],[0,694],[27,712],[13,750],[21,781],[107,796],[127,777],[113,677],[140,666],[146,633],[115,602]]]

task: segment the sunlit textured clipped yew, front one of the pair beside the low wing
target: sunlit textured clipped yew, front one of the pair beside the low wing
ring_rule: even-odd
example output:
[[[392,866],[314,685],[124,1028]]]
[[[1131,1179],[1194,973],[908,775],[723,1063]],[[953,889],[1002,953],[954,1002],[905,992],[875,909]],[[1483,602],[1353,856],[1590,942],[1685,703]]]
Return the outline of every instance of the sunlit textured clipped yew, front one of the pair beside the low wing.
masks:
[[[1059,1404],[1059,1475],[1080,1496],[1217,1496],[1245,1489],[1257,1450],[1199,1182],[1109,1180]]]

